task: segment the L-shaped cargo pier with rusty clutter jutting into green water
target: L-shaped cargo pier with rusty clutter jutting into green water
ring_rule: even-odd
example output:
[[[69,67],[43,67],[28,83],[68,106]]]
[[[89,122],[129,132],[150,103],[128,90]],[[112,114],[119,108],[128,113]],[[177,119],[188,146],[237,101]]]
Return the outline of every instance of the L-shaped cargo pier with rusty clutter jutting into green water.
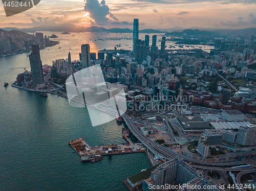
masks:
[[[84,139],[78,138],[69,142],[69,145],[80,156],[81,162],[98,162],[104,155],[117,155],[128,153],[145,152],[145,147],[142,144],[134,144],[129,139],[129,131],[123,131],[123,138],[127,141],[121,145],[99,145],[91,147]]]

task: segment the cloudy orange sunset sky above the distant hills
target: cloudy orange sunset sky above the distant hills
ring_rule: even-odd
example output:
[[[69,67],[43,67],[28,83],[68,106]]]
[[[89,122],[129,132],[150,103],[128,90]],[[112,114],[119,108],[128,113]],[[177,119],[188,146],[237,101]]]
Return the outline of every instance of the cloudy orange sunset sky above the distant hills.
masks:
[[[0,28],[30,28],[54,23],[139,29],[173,27],[242,29],[256,27],[255,0],[41,0],[34,8],[6,17],[0,3]]]

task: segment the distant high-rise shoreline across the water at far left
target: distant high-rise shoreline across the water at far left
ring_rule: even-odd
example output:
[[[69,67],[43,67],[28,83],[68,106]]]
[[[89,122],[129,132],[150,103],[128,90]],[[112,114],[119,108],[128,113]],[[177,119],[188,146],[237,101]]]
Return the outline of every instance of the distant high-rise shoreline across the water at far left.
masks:
[[[0,30],[0,56],[29,52],[32,44],[38,44],[40,48],[44,48],[51,42],[49,37],[42,33],[30,35],[16,30],[10,32]]]

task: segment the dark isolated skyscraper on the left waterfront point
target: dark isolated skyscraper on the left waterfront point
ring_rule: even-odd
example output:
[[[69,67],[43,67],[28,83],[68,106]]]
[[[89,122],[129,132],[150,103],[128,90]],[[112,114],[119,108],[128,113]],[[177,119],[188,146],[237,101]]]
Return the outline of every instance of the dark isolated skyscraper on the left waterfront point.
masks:
[[[40,58],[39,45],[32,45],[32,53],[29,55],[31,75],[33,85],[44,84],[44,74],[42,73],[42,61]]]

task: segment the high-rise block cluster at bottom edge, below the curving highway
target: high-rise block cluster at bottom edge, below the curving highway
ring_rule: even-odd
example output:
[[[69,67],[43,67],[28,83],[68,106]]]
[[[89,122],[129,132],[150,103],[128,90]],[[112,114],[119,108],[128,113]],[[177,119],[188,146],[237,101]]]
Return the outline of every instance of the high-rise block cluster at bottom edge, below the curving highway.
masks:
[[[129,182],[129,180],[127,181]],[[182,186],[180,187],[180,185]],[[184,161],[178,159],[170,160],[158,166],[157,169],[151,172],[150,178],[143,180],[142,188],[145,191],[164,189],[179,191],[221,190],[219,185],[217,186],[210,177],[205,177],[202,171],[197,171]]]

